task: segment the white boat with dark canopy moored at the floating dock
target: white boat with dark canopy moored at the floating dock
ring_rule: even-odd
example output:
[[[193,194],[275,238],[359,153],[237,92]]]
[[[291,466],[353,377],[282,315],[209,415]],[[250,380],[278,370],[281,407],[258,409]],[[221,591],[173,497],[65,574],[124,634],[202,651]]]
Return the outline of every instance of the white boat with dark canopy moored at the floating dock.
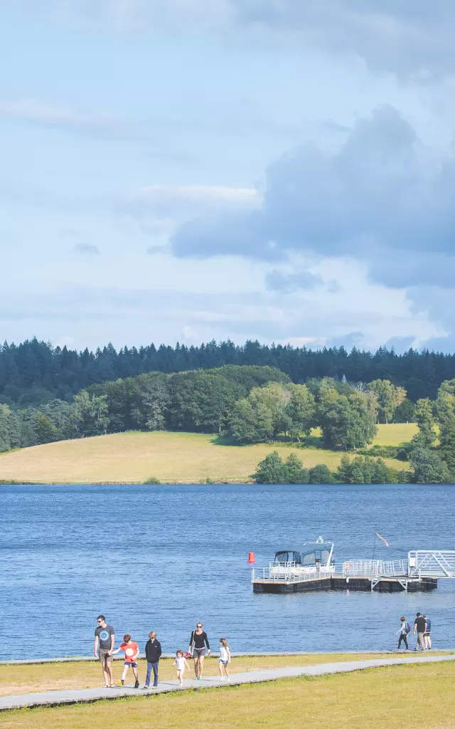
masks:
[[[317,537],[299,549],[280,550],[269,564],[270,574],[274,577],[280,574],[332,574],[335,572],[333,547],[333,542]]]

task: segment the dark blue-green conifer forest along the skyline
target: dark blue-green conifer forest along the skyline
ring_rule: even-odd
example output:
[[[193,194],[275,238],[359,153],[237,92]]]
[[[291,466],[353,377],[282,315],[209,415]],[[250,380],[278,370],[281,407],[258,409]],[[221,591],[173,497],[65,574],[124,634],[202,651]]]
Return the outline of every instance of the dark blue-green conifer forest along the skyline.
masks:
[[[352,348],[312,350],[290,345],[247,341],[215,341],[200,346],[151,344],[116,351],[108,344],[95,352],[52,347],[36,339],[0,346],[0,402],[18,408],[41,405],[74,394],[97,383],[148,372],[177,373],[222,367],[225,364],[277,367],[294,383],[311,378],[346,378],[352,383],[387,379],[405,388],[408,398],[435,399],[440,383],[455,377],[455,354],[410,349],[396,354],[379,348],[374,354]]]

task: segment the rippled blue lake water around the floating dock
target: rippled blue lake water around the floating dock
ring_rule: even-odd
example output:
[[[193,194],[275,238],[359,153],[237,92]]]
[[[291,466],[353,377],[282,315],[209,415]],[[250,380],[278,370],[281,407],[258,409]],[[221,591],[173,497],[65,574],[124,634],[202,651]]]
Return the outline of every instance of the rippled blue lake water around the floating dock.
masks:
[[[234,651],[395,647],[400,615],[455,647],[455,580],[432,593],[253,595],[248,552],[322,534],[335,558],[454,549],[453,486],[1,486],[2,658],[90,655],[102,612],[143,650],[186,647],[202,620]],[[414,647],[414,640],[413,640]]]

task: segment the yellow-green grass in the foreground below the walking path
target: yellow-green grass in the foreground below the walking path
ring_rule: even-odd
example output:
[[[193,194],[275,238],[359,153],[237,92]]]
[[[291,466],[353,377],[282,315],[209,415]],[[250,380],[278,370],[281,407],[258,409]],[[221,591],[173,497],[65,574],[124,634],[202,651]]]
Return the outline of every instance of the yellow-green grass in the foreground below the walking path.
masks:
[[[1,729],[454,729],[455,665],[185,691],[0,714]]]

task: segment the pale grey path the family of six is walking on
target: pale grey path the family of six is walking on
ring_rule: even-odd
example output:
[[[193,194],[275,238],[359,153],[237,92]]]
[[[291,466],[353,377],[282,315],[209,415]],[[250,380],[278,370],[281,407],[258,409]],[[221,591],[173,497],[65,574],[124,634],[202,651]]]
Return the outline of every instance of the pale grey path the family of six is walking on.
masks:
[[[148,690],[143,688],[118,687],[25,693],[16,696],[0,697],[0,712],[7,709],[23,709],[32,706],[60,706],[68,703],[90,703],[92,701],[100,701],[100,699],[121,698],[122,696],[143,696],[226,685],[237,686],[240,684],[261,683],[298,676],[323,676],[325,674],[346,673],[347,671],[360,671],[363,668],[379,668],[380,666],[397,666],[408,663],[439,663],[446,660],[455,660],[455,655],[414,655],[408,658],[373,658],[372,660],[318,663],[313,666],[291,666],[289,668],[274,668],[269,671],[248,671],[241,674],[232,674],[232,680],[230,682],[227,682],[226,679],[221,681],[216,677],[207,677],[200,681],[187,679],[183,682],[183,686],[179,686],[177,681],[166,681],[159,683],[157,688],[150,688]]]

